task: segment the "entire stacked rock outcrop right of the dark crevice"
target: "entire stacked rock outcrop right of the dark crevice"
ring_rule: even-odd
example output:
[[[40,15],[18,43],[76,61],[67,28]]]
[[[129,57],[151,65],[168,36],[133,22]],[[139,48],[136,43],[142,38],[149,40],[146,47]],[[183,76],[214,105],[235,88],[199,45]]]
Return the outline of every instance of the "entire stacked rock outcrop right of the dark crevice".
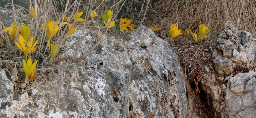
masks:
[[[237,30],[231,21],[220,32],[212,53],[217,75],[205,67],[203,71],[207,73],[201,75],[201,87],[211,96],[213,110],[221,118],[256,116],[256,72],[244,71],[245,67],[239,70],[241,63],[255,63],[255,44],[249,32]]]

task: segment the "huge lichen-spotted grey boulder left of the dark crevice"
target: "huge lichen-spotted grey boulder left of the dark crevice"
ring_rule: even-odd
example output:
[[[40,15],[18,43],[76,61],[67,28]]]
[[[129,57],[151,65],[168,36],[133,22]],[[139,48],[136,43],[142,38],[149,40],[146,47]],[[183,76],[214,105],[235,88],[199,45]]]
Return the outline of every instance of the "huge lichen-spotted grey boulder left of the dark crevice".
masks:
[[[77,30],[71,35],[66,46],[76,42],[81,33]],[[60,64],[67,69],[78,69],[58,71],[55,81],[37,85],[31,96],[26,92],[17,100],[6,96],[10,94],[1,96],[1,107],[2,103],[8,104],[0,109],[0,116],[188,118],[186,79],[170,45],[144,26],[129,37],[131,42],[103,35],[103,40],[87,59],[69,65],[65,61]],[[94,45],[92,40],[92,36],[87,35],[78,43],[81,47],[75,58],[81,57]],[[115,54],[118,50],[121,51]],[[65,56],[74,56],[75,51],[76,48],[71,48]],[[108,59],[111,55],[113,57]],[[100,62],[102,60],[106,61]],[[97,64],[83,67],[93,63]],[[96,71],[100,69],[103,70]],[[6,86],[11,85],[11,82],[6,82]]]

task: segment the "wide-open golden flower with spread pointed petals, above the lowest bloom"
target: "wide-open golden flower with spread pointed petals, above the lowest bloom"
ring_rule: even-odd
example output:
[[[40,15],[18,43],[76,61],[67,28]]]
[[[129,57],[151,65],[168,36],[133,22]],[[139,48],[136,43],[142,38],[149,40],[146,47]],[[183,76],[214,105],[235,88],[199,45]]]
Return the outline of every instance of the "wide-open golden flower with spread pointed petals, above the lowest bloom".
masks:
[[[19,41],[20,44],[14,40],[15,45],[26,54],[26,57],[29,53],[32,53],[34,51],[36,51],[37,47],[36,44],[38,43],[38,39],[36,40],[36,42],[33,44],[33,35],[31,34],[29,39],[27,41],[25,41],[24,37],[19,34]]]

